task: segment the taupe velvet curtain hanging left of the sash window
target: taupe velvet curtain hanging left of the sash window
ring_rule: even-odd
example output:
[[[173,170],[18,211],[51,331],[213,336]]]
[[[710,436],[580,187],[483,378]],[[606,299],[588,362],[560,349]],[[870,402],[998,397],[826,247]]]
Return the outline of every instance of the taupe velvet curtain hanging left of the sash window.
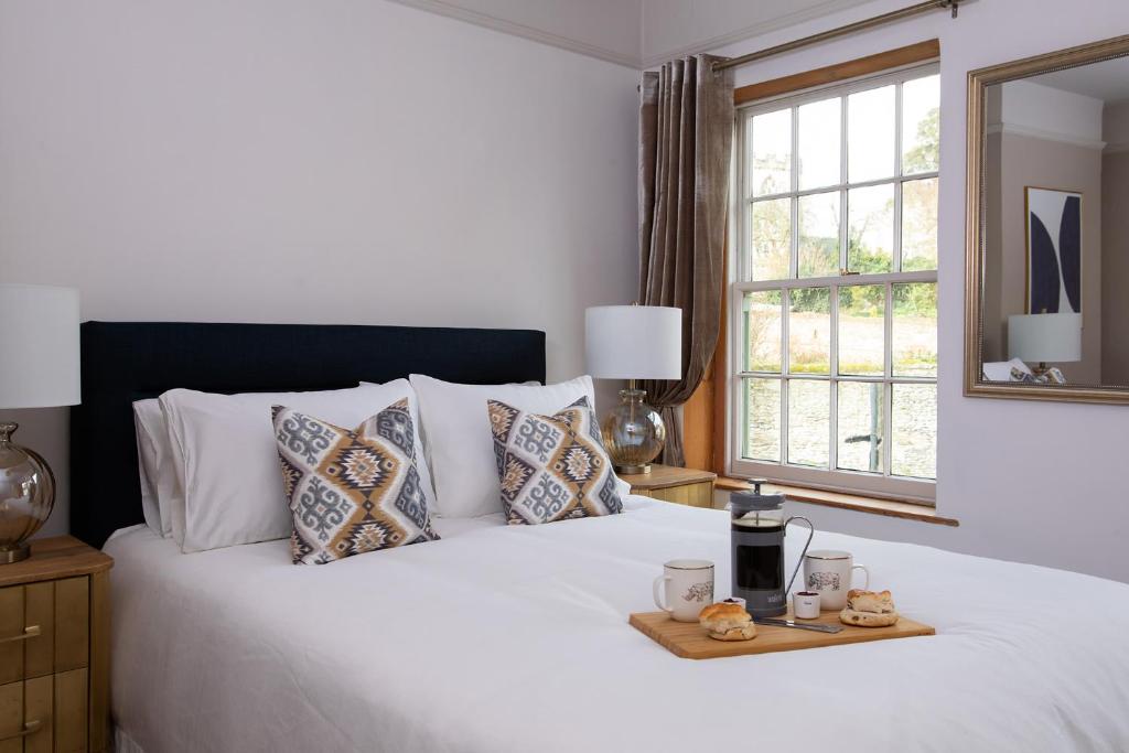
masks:
[[[642,76],[639,105],[639,303],[682,309],[682,379],[645,380],[662,410],[663,462],[685,465],[681,405],[701,384],[721,317],[733,152],[733,70],[695,55]]]

